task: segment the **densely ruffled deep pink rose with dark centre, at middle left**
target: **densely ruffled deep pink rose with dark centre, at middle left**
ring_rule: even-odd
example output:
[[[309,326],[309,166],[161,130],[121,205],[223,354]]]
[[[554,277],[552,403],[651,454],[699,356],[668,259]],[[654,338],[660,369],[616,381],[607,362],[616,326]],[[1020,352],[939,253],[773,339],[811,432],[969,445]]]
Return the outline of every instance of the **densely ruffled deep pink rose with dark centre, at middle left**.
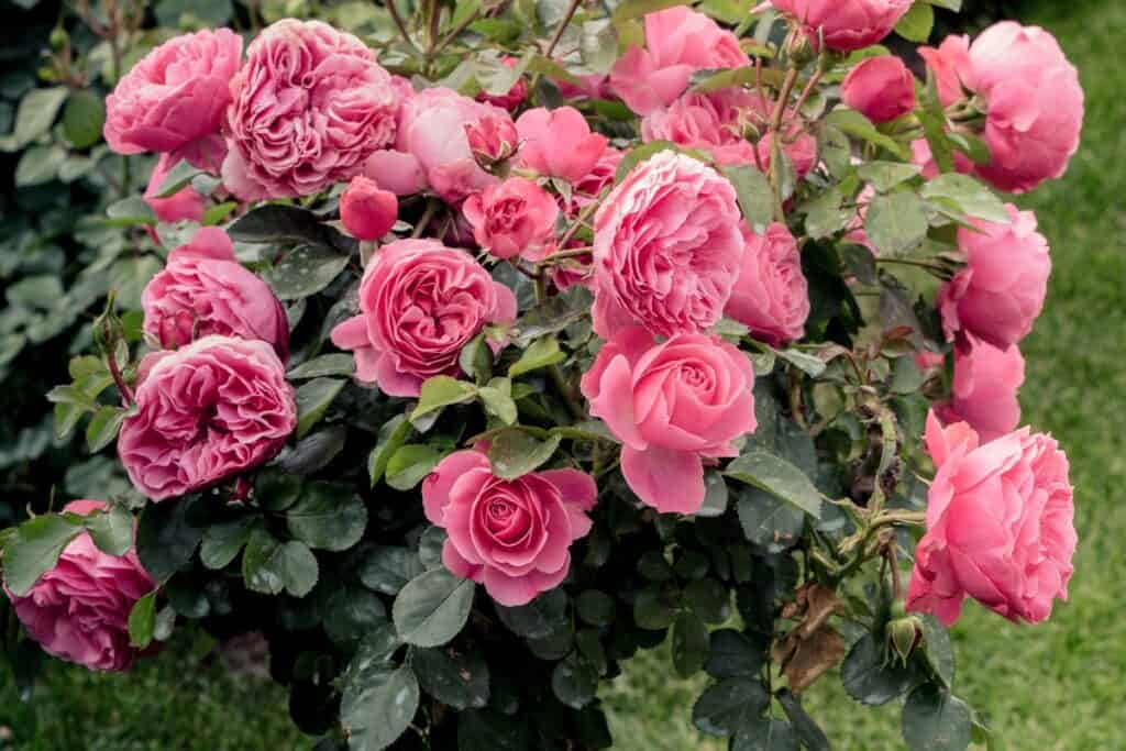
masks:
[[[293,386],[265,341],[205,337],[141,368],[138,412],[122,426],[117,453],[154,501],[268,462],[297,427]]]

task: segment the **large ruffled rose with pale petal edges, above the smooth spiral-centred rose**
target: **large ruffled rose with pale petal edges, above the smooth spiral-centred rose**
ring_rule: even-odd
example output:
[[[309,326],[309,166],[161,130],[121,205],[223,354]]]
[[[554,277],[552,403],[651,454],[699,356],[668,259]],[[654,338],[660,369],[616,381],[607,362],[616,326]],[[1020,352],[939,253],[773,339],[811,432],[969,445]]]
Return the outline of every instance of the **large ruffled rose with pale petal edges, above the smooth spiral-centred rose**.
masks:
[[[598,336],[715,324],[739,276],[741,223],[731,182],[695,159],[663,151],[635,167],[595,214]]]

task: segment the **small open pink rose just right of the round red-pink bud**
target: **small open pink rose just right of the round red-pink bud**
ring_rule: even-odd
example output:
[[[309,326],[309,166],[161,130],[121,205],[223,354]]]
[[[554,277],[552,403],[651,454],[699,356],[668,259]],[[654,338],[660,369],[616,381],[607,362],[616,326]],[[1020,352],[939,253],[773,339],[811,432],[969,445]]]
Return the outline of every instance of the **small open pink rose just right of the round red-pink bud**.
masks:
[[[497,258],[522,254],[535,260],[552,239],[560,208],[531,180],[511,177],[470,196],[462,213],[482,249]]]

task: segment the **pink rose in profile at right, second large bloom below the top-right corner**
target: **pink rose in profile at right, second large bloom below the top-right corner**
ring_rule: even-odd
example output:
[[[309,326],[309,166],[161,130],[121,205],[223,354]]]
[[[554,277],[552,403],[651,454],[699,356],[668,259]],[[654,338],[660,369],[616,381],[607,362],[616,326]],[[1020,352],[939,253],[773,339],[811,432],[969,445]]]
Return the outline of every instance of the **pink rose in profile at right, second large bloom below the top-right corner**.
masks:
[[[1044,307],[1052,259],[1036,231],[1036,215],[1007,206],[1011,224],[975,221],[978,231],[958,230],[966,267],[938,292],[947,337],[973,334],[1000,349],[1033,330]]]

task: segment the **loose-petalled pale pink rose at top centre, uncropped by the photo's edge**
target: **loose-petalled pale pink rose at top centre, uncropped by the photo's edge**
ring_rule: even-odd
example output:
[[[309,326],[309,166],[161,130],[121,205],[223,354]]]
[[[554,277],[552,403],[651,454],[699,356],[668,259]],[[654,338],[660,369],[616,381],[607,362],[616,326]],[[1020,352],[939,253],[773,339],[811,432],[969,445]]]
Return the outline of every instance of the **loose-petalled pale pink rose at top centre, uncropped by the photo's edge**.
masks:
[[[638,115],[668,107],[699,70],[750,65],[739,39],[704,14],[677,6],[645,16],[645,46],[610,70],[610,89]]]

